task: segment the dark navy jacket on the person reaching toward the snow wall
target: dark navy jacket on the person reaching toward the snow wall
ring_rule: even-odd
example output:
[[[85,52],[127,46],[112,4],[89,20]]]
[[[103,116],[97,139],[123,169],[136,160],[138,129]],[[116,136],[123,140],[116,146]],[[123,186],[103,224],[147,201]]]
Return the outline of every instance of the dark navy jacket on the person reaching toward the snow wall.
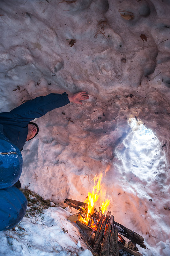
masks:
[[[66,92],[50,93],[47,96],[29,100],[10,112],[0,113],[0,124],[3,125],[4,135],[22,150],[28,134],[28,123],[44,116],[48,111],[70,103],[67,96]]]

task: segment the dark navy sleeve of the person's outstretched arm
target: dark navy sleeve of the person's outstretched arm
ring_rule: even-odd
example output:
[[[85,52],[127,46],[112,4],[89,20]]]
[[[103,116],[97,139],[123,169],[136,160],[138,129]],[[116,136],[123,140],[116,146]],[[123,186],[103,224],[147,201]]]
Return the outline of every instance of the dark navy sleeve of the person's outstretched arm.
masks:
[[[37,97],[33,100],[29,100],[22,105],[14,108],[10,111],[15,121],[28,124],[35,118],[44,116],[48,111],[55,108],[60,108],[68,103],[68,94],[50,93],[46,96]]]

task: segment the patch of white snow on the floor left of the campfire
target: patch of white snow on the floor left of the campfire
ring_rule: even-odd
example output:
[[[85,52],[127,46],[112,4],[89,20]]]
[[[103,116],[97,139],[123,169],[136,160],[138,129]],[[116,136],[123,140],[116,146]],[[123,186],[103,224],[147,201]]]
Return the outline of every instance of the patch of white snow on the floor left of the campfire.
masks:
[[[1,237],[3,255],[92,256],[80,237],[78,228],[67,221],[70,212],[50,207],[39,216],[24,217],[16,231],[4,231]],[[3,246],[2,246],[3,244]]]

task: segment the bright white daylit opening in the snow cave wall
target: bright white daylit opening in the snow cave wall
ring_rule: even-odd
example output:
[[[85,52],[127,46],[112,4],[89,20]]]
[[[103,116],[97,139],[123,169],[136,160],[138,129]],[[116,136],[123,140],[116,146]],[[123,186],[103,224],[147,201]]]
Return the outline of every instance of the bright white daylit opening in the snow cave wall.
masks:
[[[129,118],[131,131],[115,149],[116,156],[122,160],[122,169],[138,179],[149,182],[159,169],[166,164],[165,154],[160,141],[145,124]]]

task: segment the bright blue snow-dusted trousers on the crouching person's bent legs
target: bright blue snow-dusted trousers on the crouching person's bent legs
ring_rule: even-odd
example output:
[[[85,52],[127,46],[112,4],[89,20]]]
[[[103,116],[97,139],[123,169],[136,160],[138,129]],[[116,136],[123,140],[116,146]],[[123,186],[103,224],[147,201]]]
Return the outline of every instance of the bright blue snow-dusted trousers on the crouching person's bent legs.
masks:
[[[0,231],[15,227],[26,213],[26,197],[13,187],[21,172],[21,152],[4,136],[0,124]]]

